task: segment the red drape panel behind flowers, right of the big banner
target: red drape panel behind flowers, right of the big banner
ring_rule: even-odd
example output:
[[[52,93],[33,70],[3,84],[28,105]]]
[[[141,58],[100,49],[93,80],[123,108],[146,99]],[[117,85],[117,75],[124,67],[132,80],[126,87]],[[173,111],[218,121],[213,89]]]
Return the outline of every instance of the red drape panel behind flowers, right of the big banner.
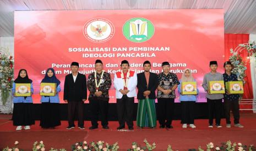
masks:
[[[238,44],[248,43],[249,34],[225,34],[225,61],[228,61],[230,57],[230,49],[235,48]],[[247,70],[246,70],[246,84],[244,85],[244,94],[243,98],[253,98],[253,88],[252,88],[252,78],[250,76],[250,60],[247,59],[246,50],[241,52],[241,56],[243,57],[243,61],[247,61]],[[242,108],[252,108],[250,105],[241,106]]]

